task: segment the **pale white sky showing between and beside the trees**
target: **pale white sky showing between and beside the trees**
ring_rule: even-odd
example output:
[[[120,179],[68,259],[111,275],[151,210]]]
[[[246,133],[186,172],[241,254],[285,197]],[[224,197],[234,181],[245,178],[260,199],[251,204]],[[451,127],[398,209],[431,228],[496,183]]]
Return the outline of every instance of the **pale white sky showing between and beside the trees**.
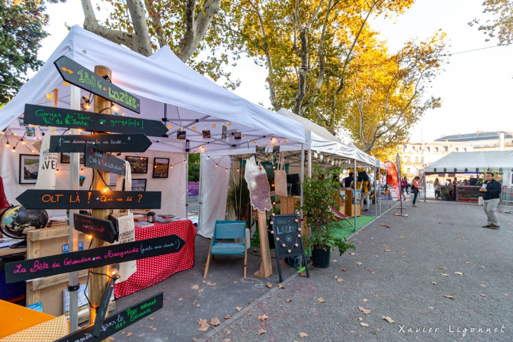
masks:
[[[393,20],[372,21],[381,31],[391,51],[399,49],[410,37],[425,39],[438,29],[447,33],[450,53],[496,45],[485,42],[476,27],[468,26],[482,17],[482,0],[417,0],[404,15]],[[82,25],[84,15],[80,1],[49,4],[51,34],[42,43],[40,59],[46,61],[67,35],[65,23]],[[441,96],[442,107],[428,110],[416,127],[411,142],[432,141],[442,135],[472,133],[478,130],[513,131],[513,45],[453,54],[445,71],[431,83],[427,95]],[[235,93],[254,103],[270,107],[265,89],[266,71],[251,61],[239,61],[233,68],[234,78],[241,79]]]

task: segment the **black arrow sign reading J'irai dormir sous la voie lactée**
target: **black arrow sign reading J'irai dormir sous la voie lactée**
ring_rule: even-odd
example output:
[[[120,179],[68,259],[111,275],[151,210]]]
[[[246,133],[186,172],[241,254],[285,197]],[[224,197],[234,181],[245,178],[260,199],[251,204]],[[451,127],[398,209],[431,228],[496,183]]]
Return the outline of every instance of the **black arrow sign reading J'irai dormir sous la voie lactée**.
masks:
[[[146,134],[52,135],[49,152],[82,153],[86,145],[104,152],[144,152],[151,140]]]

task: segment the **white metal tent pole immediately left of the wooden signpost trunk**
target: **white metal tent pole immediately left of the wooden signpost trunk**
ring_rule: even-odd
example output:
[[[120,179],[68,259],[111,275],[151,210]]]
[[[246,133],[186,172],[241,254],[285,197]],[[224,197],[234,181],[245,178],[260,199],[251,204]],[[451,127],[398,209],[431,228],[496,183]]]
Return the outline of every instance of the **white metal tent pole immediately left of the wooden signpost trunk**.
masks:
[[[80,88],[71,85],[71,109],[80,109]],[[56,96],[54,96],[55,99]],[[56,106],[55,106],[56,107]],[[76,129],[71,129],[71,134],[77,134]],[[69,188],[78,190],[78,153],[70,153],[69,160]],[[77,210],[69,211],[69,245],[70,250],[78,251],[78,231],[75,230],[73,215]],[[78,285],[78,272],[70,272],[68,278],[68,286],[75,287]],[[78,291],[70,291],[69,293],[69,331],[78,330]]]

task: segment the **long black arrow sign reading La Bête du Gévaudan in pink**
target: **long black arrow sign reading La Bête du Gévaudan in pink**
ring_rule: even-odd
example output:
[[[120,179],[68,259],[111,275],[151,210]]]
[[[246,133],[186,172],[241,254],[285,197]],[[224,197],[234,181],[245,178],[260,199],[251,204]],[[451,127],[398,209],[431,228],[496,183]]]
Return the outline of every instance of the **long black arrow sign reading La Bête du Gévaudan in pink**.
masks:
[[[173,234],[85,251],[15,261],[5,264],[6,283],[176,253],[184,244],[185,241],[180,236]]]

